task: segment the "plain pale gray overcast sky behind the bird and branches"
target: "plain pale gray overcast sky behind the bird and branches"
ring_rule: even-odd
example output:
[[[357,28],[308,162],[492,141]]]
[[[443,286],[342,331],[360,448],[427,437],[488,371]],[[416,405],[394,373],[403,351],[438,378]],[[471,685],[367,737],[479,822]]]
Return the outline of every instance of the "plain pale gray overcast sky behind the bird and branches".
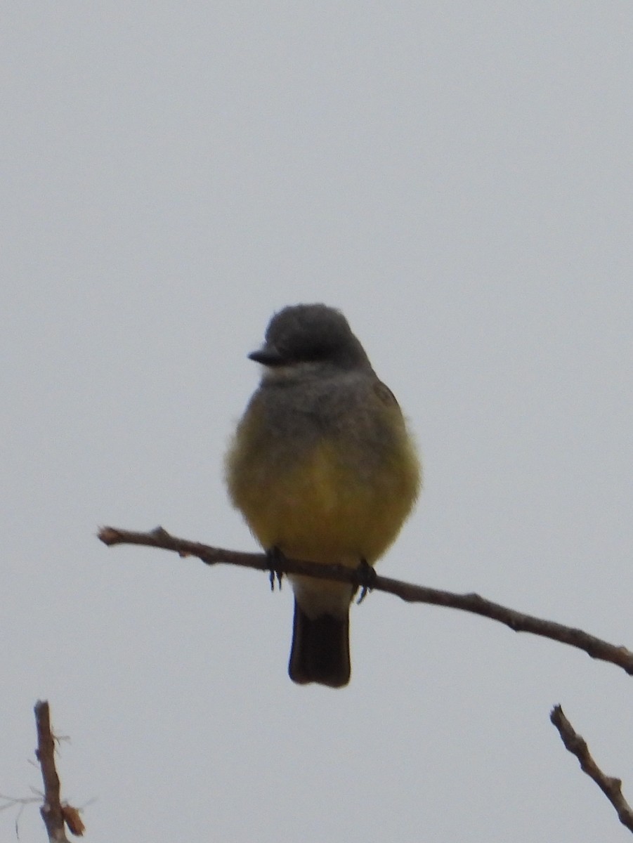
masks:
[[[380,571],[633,646],[630,0],[20,3],[0,33],[0,792],[40,785],[41,697],[93,843],[625,840],[548,719],[633,798],[618,668],[376,593],[351,685],[300,688],[290,588],[94,533],[255,549],[222,479],[246,354],[323,301],[425,463]]]

